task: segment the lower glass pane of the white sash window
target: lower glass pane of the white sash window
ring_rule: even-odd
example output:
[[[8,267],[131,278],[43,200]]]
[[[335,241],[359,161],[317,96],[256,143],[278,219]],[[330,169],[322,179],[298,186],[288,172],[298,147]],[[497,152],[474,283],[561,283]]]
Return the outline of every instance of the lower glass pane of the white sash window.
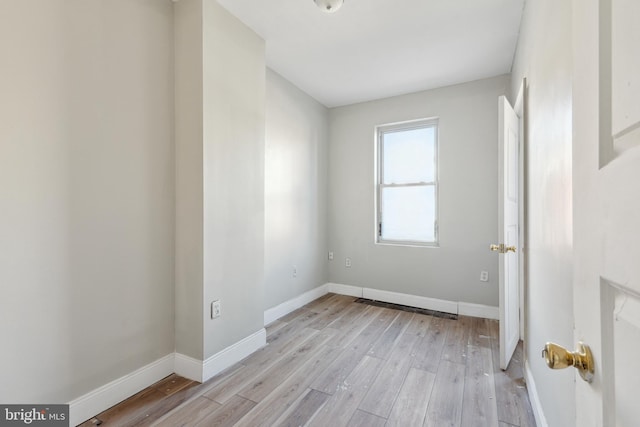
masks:
[[[382,189],[382,240],[435,242],[433,185]]]

